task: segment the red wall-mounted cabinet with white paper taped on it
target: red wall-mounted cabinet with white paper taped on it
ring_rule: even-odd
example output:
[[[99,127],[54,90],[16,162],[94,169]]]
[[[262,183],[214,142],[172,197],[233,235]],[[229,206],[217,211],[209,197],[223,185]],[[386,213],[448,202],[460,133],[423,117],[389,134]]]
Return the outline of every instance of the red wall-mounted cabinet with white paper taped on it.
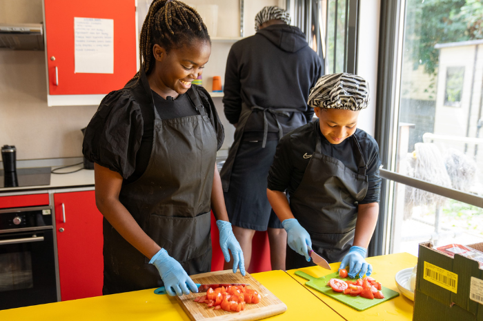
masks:
[[[135,0],[43,0],[48,105],[99,105],[137,71]]]

